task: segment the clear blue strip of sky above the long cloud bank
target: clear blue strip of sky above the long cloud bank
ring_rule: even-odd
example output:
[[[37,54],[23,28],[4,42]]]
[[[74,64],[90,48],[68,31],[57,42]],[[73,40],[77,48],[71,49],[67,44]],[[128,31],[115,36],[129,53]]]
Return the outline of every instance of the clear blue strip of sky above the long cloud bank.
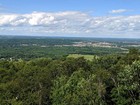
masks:
[[[1,12],[92,11],[96,16],[108,15],[108,11],[117,9],[134,10],[128,14],[138,14],[139,4],[139,0],[0,0],[1,7],[5,8]]]

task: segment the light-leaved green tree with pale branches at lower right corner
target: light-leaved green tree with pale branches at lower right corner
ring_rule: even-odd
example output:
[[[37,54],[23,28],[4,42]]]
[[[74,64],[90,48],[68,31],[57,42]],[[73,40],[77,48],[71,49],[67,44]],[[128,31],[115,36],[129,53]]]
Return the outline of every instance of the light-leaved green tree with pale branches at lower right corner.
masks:
[[[112,90],[117,105],[133,105],[140,101],[140,61],[133,62],[118,73],[118,86]]]

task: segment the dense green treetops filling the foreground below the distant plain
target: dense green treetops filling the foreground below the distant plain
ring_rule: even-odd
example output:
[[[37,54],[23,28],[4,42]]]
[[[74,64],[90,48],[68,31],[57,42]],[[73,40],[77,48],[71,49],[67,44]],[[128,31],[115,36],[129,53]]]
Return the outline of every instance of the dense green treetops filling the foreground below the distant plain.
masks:
[[[0,60],[0,105],[140,105],[140,54]]]

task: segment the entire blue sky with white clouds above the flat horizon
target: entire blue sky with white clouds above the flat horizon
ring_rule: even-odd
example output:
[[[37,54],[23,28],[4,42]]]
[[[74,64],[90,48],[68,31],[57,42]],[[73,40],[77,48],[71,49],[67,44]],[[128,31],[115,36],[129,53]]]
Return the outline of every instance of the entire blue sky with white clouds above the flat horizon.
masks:
[[[0,35],[140,38],[140,0],[0,0]]]

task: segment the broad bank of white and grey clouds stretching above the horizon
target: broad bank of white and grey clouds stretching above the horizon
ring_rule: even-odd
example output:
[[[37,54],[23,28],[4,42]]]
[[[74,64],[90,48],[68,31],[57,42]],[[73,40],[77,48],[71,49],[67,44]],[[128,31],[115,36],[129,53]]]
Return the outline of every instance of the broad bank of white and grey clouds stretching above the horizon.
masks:
[[[140,15],[96,17],[78,11],[0,14],[0,34],[140,34]]]

